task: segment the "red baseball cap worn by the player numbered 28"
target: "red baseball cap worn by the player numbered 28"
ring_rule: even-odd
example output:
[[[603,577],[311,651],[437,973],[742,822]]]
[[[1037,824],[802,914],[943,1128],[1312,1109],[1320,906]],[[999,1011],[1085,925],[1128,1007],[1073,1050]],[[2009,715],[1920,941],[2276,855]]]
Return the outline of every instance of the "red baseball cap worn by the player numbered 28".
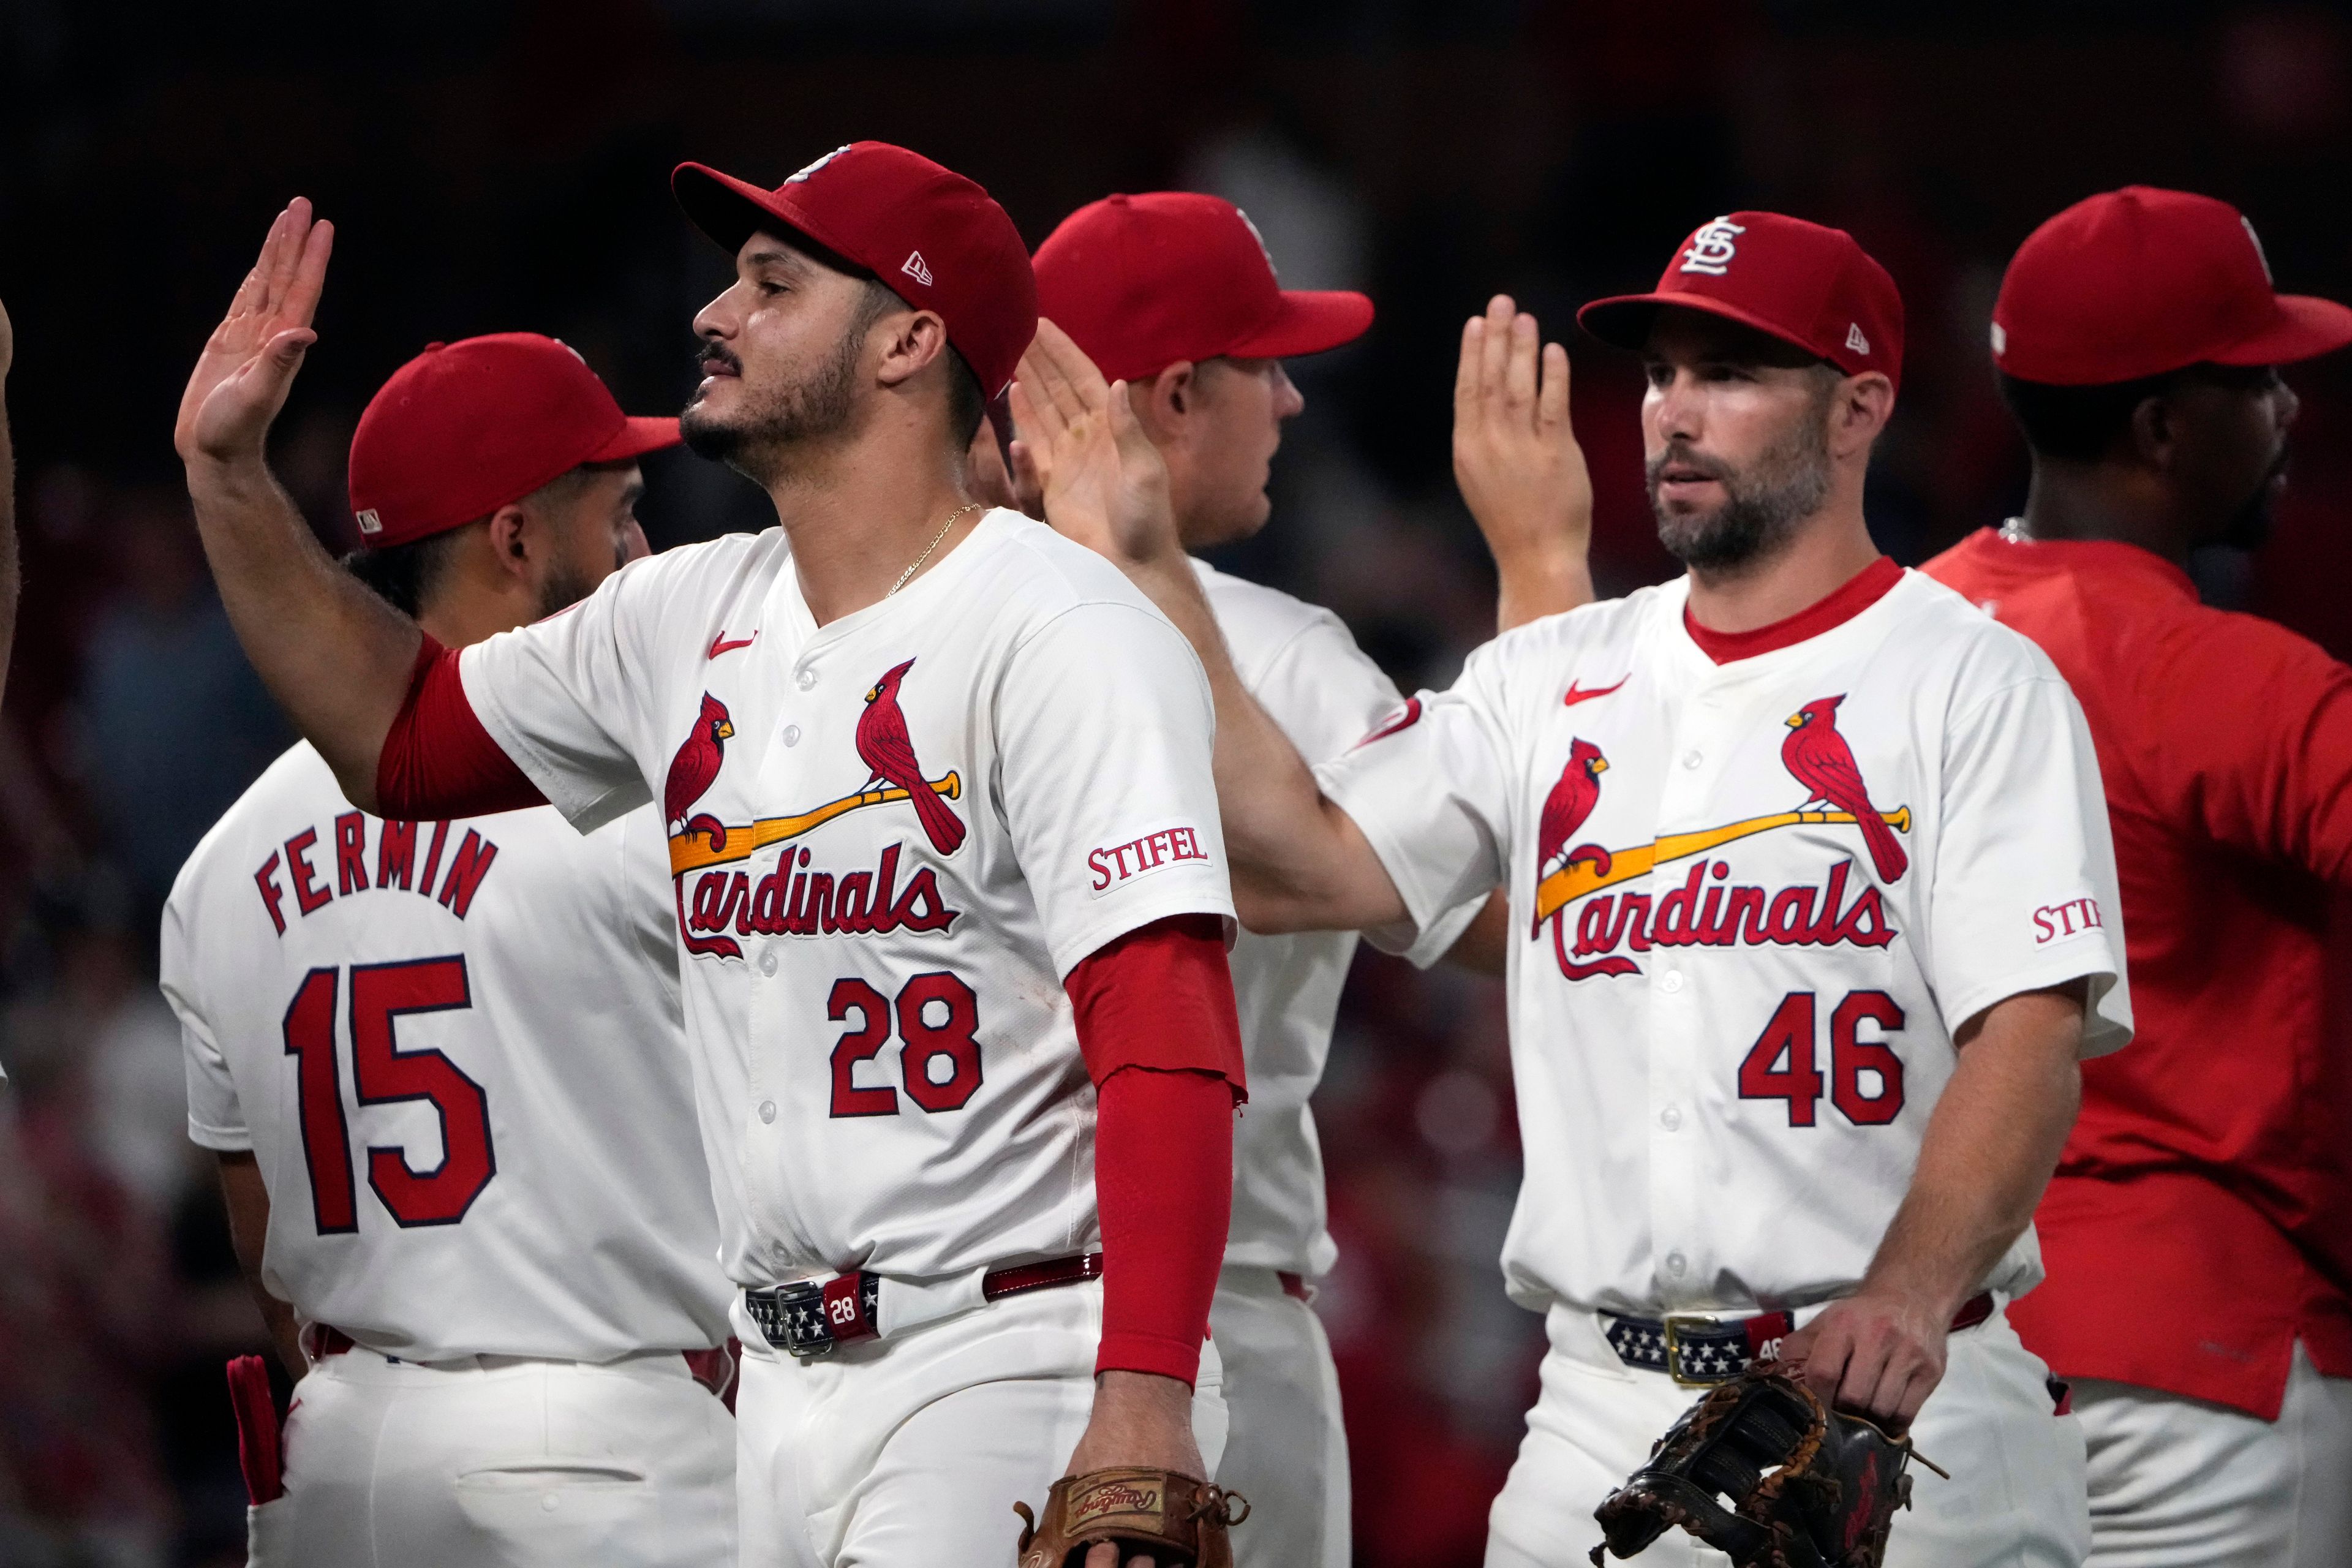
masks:
[[[922,153],[851,141],[774,190],[682,162],[670,190],[729,252],[762,228],[802,235],[906,303],[936,310],[990,400],[1037,336],[1037,280],[1021,230],[985,190]]]

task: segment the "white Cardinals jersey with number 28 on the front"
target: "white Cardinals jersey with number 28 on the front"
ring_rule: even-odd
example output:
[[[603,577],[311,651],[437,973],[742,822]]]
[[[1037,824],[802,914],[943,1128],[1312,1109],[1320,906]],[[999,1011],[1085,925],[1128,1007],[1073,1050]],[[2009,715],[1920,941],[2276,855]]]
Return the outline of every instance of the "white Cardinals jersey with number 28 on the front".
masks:
[[[635,562],[459,668],[576,825],[661,802],[739,1284],[1098,1246],[1063,978],[1155,919],[1232,917],[1207,679],[1110,562],[997,510],[818,628],[769,529]]]

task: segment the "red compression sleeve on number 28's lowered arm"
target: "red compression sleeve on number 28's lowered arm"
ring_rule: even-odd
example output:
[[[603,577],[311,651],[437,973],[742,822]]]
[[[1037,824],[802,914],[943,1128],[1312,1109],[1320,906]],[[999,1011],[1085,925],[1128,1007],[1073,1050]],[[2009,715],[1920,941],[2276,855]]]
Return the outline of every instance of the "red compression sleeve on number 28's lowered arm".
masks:
[[[1080,961],[1068,990],[1098,1088],[1094,1371],[1192,1382],[1232,1225],[1232,1107],[1244,1098],[1223,924],[1152,922]]]

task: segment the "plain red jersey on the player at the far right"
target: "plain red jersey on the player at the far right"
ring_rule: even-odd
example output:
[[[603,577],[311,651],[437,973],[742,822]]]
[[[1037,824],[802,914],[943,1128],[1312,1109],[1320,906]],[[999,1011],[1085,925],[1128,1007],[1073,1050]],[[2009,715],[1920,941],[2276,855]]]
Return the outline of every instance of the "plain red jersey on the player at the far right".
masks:
[[[2296,1340],[2352,1375],[2352,1060],[2324,1027],[2352,886],[2352,668],[2122,543],[1983,529],[1926,564],[2091,722],[2138,1037],[2084,1063],[2011,1321],[2060,1375],[2274,1420]]]

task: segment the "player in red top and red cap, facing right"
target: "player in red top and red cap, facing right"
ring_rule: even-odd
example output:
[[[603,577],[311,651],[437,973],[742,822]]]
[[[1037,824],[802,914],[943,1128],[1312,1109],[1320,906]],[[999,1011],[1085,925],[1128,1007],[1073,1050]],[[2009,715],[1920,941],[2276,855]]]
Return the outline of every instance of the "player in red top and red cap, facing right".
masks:
[[[1926,571],[2082,698],[2140,1013],[2084,1072],[2018,1333],[2074,1385],[2093,1563],[2345,1563],[2352,1065],[2321,1004],[2352,670],[2201,607],[2183,567],[2258,543],[2296,418],[2277,367],[2352,343],[2352,310],[2277,294],[2234,207],[2129,188],[2034,230],[1992,322],[2032,491]]]

